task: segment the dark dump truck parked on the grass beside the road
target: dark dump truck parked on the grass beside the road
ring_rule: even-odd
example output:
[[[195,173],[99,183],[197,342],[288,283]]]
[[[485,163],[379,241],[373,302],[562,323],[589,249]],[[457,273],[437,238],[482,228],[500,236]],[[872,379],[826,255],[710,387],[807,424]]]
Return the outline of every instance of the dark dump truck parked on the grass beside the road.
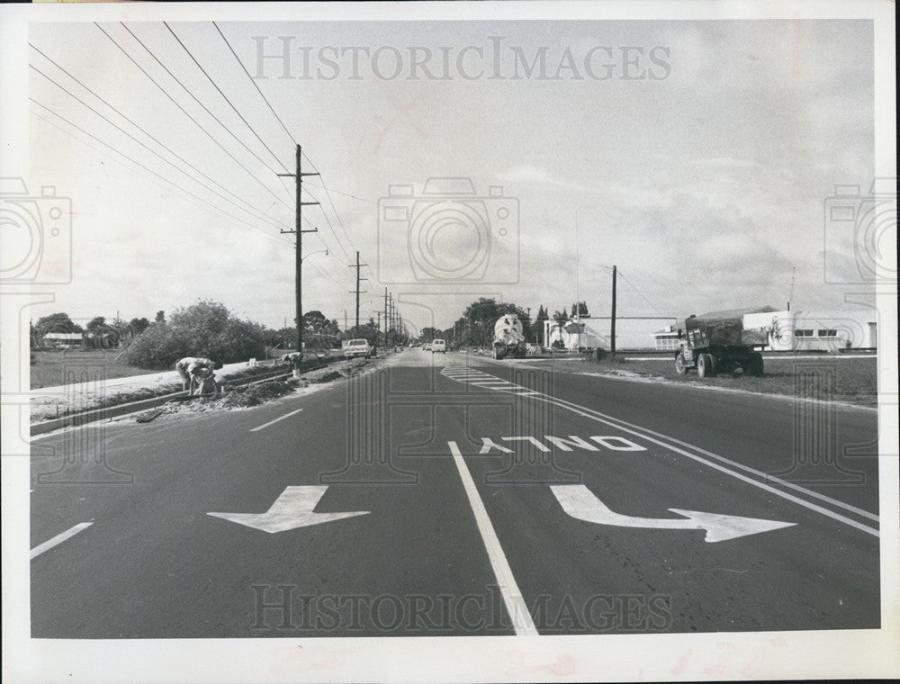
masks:
[[[761,347],[768,335],[761,330],[743,328],[741,318],[709,319],[691,316],[676,324],[679,350],[675,353],[675,370],[686,374],[696,368],[701,378],[734,373],[762,375]]]

